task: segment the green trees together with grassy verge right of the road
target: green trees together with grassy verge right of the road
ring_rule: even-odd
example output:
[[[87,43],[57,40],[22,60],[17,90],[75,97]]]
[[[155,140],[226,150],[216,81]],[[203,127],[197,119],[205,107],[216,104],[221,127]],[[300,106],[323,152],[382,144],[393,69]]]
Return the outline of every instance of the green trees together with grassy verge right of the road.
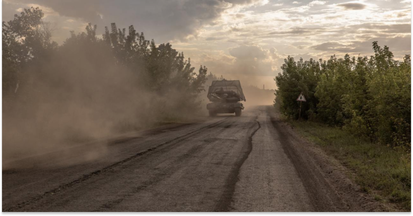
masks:
[[[274,106],[310,140],[354,171],[376,199],[411,209],[411,59],[387,46],[374,55],[285,59]],[[306,97],[296,101],[300,92]]]

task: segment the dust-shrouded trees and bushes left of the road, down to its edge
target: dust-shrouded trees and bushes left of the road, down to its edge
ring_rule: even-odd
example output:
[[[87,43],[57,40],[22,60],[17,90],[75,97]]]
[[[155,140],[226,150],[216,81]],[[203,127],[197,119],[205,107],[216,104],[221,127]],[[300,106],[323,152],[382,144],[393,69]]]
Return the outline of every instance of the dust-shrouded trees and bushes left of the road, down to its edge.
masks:
[[[43,16],[30,8],[2,22],[5,155],[197,116],[205,66],[115,23],[101,36],[89,24],[58,45]]]

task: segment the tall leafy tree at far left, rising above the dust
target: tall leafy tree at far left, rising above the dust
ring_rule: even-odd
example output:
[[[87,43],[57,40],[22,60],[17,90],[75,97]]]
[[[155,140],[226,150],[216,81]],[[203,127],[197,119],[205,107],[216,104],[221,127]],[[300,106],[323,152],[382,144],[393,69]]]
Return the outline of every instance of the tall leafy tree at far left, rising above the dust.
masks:
[[[39,8],[25,9],[14,20],[2,22],[2,91],[7,97],[17,93],[27,81],[22,71],[47,61],[57,43],[51,40],[53,26],[42,21]]]

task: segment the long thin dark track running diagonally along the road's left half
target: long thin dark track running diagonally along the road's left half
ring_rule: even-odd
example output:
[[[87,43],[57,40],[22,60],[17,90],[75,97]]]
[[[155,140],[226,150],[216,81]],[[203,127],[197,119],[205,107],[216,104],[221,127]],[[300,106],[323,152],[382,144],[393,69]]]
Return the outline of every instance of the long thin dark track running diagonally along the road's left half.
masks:
[[[111,169],[114,168],[114,167],[117,167],[117,166],[119,166],[119,165],[121,165],[121,164],[124,164],[124,163],[126,163],[126,162],[134,159],[134,158],[137,158],[137,157],[140,157],[140,156],[142,156],[142,155],[144,155],[144,154],[147,154],[147,153],[149,153],[149,152],[152,152],[152,151],[154,151],[154,150],[156,150],[156,149],[158,149],[158,148],[160,148],[160,147],[162,147],[162,146],[164,146],[164,145],[167,145],[167,144],[170,144],[170,143],[172,143],[172,142],[174,142],[174,141],[177,141],[177,140],[179,140],[179,139],[185,138],[185,137],[187,137],[188,135],[191,135],[191,134],[193,134],[193,133],[195,133],[195,132],[198,132],[198,131],[200,131],[200,130],[202,130],[202,129],[209,128],[209,127],[214,127],[214,126],[216,126],[216,125],[224,122],[224,121],[227,120],[227,119],[228,119],[228,117],[225,118],[225,119],[223,119],[223,120],[220,120],[220,121],[218,121],[218,122],[215,122],[215,123],[213,123],[213,124],[210,124],[210,125],[201,127],[201,128],[199,128],[199,129],[196,129],[196,130],[194,130],[194,131],[192,131],[192,132],[189,132],[189,133],[187,133],[187,134],[185,134],[185,135],[176,137],[176,138],[174,138],[174,139],[172,139],[172,140],[169,140],[169,141],[167,141],[167,142],[164,142],[164,143],[162,143],[162,144],[159,144],[158,146],[155,146],[155,147],[152,147],[152,148],[147,149],[147,150],[145,150],[145,151],[136,153],[136,154],[134,154],[134,155],[132,155],[132,156],[130,156],[130,157],[128,157],[128,158],[125,158],[125,159],[123,159],[123,160],[121,160],[121,161],[119,161],[119,162],[116,162],[116,163],[114,163],[114,164],[108,165],[108,166],[106,166],[106,167],[104,167],[104,168],[102,168],[102,169],[96,170],[96,171],[91,172],[91,173],[89,173],[89,174],[85,174],[85,175],[83,175],[82,177],[80,177],[80,178],[78,178],[78,179],[76,179],[76,180],[74,180],[74,181],[71,181],[71,182],[66,183],[66,184],[62,184],[62,185],[60,185],[60,186],[58,186],[58,187],[56,187],[56,188],[54,188],[54,189],[52,189],[52,190],[49,190],[49,191],[44,192],[44,193],[41,194],[41,195],[32,197],[32,198],[30,198],[30,199],[28,199],[28,200],[26,200],[26,201],[23,201],[23,202],[20,202],[20,203],[18,203],[18,204],[15,204],[14,206],[5,209],[5,211],[7,212],[7,211],[17,210],[17,209],[19,209],[19,208],[22,208],[22,207],[25,206],[25,205],[29,205],[29,204],[31,204],[31,203],[36,202],[36,201],[44,198],[45,196],[48,196],[48,195],[51,195],[51,194],[55,194],[55,193],[57,193],[57,192],[61,192],[62,190],[66,189],[66,188],[70,188],[70,187],[72,187],[72,186],[74,186],[74,185],[77,185],[77,184],[79,184],[79,183],[81,183],[81,182],[83,182],[83,181],[85,181],[85,180],[87,180],[87,179],[89,179],[89,178],[91,178],[91,177],[93,177],[93,176],[95,176],[95,175],[99,175],[99,174],[102,174],[102,173],[104,173],[104,172],[107,172],[107,171],[111,170]]]

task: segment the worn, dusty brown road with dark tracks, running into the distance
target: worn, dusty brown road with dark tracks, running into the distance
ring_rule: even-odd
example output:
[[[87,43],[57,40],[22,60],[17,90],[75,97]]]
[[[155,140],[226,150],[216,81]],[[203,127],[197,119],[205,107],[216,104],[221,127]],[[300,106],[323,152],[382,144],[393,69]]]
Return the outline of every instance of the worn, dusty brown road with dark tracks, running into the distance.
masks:
[[[223,115],[6,161],[2,211],[377,208],[322,152],[307,148],[271,106],[251,107],[241,117]]]

